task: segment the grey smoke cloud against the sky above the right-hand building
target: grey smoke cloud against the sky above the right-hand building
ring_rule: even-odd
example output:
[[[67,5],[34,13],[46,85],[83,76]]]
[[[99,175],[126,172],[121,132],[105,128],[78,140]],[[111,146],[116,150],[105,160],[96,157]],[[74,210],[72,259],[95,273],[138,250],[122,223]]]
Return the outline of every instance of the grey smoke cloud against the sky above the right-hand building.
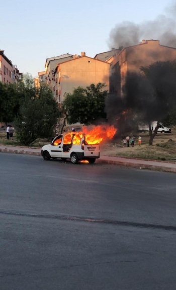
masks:
[[[176,1],[153,21],[141,24],[124,21],[110,32],[109,46],[119,48],[136,45],[142,39],[160,40],[161,45],[176,47]]]

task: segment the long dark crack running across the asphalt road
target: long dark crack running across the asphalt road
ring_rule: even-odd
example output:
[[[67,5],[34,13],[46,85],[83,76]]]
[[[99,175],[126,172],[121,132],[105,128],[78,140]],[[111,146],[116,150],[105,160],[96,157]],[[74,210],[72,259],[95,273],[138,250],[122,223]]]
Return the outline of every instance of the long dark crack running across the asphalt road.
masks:
[[[79,217],[79,216],[67,216],[67,215],[46,215],[46,214],[30,214],[17,211],[8,211],[0,210],[2,215],[14,215],[20,217],[31,217],[31,218],[43,218],[43,219],[56,219],[56,220],[66,220],[66,221],[75,221],[75,222],[89,222],[89,223],[99,223],[99,224],[110,224],[117,226],[126,226],[126,227],[138,227],[138,228],[149,228],[157,230],[170,230],[176,231],[175,226],[165,226],[158,224],[148,224],[148,223],[137,223],[137,222],[128,222],[128,221],[118,221],[118,220],[108,220],[108,219],[98,219],[98,218],[89,218],[89,217]]]

